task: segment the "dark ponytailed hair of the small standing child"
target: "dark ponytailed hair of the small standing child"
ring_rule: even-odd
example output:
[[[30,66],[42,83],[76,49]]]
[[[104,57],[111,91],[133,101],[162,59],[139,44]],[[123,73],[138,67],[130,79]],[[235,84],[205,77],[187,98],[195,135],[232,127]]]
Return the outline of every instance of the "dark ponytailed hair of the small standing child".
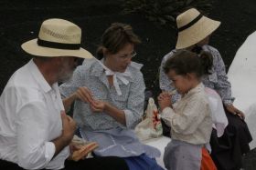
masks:
[[[179,50],[165,62],[164,70],[165,74],[174,70],[177,75],[195,73],[197,77],[201,77],[211,74],[209,70],[212,67],[212,61],[212,55],[208,52],[201,51],[197,55],[187,50]]]

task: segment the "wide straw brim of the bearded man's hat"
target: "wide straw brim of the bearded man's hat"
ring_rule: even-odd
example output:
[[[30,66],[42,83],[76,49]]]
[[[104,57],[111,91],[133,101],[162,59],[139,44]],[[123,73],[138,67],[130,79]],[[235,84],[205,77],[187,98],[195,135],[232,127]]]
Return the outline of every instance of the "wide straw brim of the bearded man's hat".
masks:
[[[78,50],[57,49],[37,45],[37,38],[27,41],[21,45],[22,49],[30,55],[56,57],[56,56],[76,56],[80,58],[92,58],[93,55],[80,47]]]

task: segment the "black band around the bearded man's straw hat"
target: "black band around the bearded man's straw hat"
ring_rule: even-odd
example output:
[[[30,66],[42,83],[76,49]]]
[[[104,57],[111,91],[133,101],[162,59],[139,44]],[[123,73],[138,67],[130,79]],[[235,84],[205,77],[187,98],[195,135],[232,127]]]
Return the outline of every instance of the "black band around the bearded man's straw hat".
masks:
[[[45,47],[49,47],[49,48],[66,49],[66,50],[80,49],[80,44],[56,43],[56,42],[45,41],[40,38],[37,38],[37,45],[45,46]]]

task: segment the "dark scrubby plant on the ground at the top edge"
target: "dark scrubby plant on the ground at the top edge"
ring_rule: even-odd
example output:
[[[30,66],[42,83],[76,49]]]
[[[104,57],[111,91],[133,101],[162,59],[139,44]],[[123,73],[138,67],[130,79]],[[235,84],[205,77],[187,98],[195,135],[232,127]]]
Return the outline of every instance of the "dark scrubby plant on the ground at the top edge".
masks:
[[[125,0],[123,13],[139,13],[160,25],[176,25],[176,16],[188,8],[196,7],[208,15],[213,0]]]

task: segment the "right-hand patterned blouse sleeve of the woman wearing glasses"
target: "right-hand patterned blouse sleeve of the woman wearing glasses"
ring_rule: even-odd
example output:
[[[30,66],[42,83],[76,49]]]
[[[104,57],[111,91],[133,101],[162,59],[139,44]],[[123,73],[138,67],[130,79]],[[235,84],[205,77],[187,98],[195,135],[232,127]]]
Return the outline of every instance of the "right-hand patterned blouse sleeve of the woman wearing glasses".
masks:
[[[135,76],[128,97],[127,108],[123,109],[127,128],[134,128],[144,113],[144,78],[142,73]]]

